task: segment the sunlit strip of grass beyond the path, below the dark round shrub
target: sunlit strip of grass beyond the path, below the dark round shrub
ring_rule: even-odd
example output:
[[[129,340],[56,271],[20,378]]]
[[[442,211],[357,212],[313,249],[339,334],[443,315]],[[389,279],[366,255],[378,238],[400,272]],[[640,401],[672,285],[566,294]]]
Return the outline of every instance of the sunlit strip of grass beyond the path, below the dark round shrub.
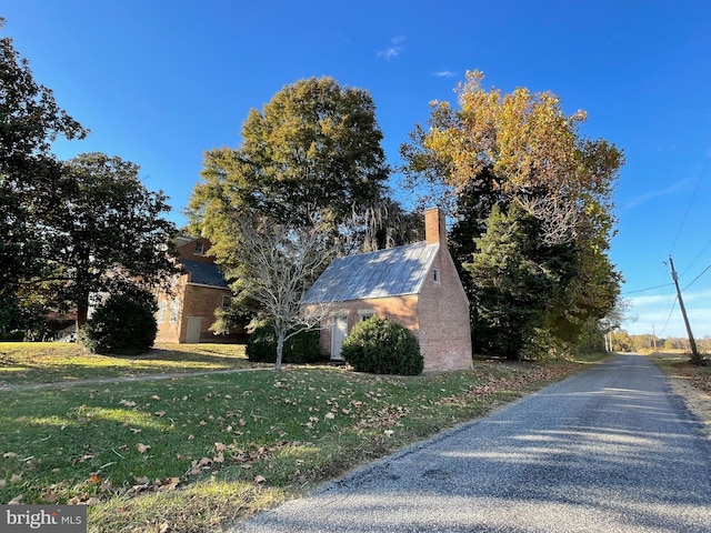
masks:
[[[0,342],[0,386],[254,368],[239,344],[158,344],[148,354],[96,355],[59,342]]]

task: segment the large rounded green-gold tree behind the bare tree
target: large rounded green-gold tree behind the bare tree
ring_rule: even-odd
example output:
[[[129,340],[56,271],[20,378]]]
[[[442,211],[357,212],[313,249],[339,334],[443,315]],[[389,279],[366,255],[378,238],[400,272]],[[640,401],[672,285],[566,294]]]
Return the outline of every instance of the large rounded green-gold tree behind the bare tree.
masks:
[[[236,149],[204,154],[187,210],[192,232],[212,241],[211,253],[228,271],[250,260],[241,220],[310,228],[318,215],[336,238],[344,224],[352,234],[353,213],[361,217],[384,193],[383,135],[364,90],[331,78],[300,80],[252,109],[241,137]]]

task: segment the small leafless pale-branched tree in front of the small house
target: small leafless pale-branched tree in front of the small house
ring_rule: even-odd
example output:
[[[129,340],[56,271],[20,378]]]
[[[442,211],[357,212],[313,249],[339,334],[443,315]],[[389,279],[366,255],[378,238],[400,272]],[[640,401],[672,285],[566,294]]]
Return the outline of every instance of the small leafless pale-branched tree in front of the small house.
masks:
[[[312,222],[302,227],[263,215],[239,220],[243,261],[240,291],[274,320],[276,370],[281,370],[284,342],[316,328],[327,313],[324,306],[300,304],[336,250],[320,218],[314,217]]]

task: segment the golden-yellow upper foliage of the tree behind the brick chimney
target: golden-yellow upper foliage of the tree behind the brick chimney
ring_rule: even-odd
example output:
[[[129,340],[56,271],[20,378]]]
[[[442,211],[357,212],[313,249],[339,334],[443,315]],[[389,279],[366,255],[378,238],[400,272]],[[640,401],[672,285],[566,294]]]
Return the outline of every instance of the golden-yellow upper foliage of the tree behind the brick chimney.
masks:
[[[459,190],[488,167],[507,192],[555,190],[574,168],[575,130],[585,113],[567,117],[551,92],[517,88],[502,94],[484,90],[482,80],[482,72],[468,72],[459,87],[459,112],[437,104],[422,139],[425,152],[447,168],[447,179]]]

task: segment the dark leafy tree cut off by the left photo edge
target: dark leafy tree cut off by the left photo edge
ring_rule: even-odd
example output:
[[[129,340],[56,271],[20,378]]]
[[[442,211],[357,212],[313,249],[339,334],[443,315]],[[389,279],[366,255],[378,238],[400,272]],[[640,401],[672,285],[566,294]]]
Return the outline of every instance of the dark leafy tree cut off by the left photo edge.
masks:
[[[58,107],[50,89],[34,81],[12,39],[0,38],[0,306],[6,316],[12,314],[8,308],[19,280],[41,266],[44,235],[36,224],[54,203],[60,177],[51,142],[60,135],[82,139],[87,132]]]

